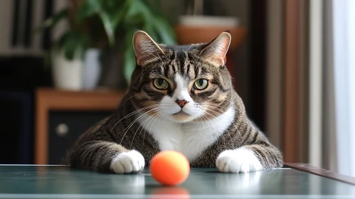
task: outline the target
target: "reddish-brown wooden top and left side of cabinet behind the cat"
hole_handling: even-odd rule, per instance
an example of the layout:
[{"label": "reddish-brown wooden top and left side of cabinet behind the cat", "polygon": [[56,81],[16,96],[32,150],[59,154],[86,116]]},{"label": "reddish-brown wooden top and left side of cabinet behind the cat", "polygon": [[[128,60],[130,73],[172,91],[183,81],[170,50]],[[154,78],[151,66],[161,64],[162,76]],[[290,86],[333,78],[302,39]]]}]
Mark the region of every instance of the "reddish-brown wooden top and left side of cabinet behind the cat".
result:
[{"label": "reddish-brown wooden top and left side of cabinet behind the cat", "polygon": [[68,91],[41,87],[36,90],[35,163],[48,163],[48,112],[107,111],[117,109],[125,92],[117,90]]}]

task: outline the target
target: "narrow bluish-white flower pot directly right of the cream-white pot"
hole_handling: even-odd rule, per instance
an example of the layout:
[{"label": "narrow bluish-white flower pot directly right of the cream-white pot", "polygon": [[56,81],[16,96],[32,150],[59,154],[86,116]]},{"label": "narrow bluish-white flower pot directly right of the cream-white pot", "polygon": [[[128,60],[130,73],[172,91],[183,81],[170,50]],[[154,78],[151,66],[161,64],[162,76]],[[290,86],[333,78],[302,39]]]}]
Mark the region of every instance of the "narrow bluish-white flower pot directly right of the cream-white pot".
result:
[{"label": "narrow bluish-white flower pot directly right of the cream-white pot", "polygon": [[101,74],[101,51],[95,48],[88,49],[85,53],[83,64],[83,89],[92,90],[97,86]]}]

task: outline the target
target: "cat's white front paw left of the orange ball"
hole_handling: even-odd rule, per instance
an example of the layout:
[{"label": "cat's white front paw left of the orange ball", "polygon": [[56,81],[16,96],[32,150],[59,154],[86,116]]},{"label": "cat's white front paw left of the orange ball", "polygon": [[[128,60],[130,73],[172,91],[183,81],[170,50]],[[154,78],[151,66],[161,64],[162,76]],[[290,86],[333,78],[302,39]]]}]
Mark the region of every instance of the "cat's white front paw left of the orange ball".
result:
[{"label": "cat's white front paw left of the orange ball", "polygon": [[138,151],[122,152],[112,158],[111,171],[115,173],[132,173],[144,168],[144,157]]}]

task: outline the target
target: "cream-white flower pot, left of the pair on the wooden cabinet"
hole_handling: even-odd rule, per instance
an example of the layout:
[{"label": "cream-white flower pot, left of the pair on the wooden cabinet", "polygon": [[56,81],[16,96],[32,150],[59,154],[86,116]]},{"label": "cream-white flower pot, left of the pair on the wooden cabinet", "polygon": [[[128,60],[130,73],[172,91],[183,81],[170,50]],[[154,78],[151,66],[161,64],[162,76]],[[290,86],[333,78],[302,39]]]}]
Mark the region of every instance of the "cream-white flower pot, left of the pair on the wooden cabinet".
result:
[{"label": "cream-white flower pot, left of the pair on the wooden cabinet", "polygon": [[63,52],[55,51],[52,56],[52,75],[54,86],[63,90],[82,90],[83,60],[68,60]]}]

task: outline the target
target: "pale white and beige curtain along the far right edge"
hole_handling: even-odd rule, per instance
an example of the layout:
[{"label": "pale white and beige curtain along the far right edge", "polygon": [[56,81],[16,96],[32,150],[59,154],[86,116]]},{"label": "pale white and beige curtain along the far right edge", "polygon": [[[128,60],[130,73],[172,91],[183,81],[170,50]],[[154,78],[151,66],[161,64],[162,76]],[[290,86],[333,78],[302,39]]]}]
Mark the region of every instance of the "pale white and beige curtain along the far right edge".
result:
[{"label": "pale white and beige curtain along the far right edge", "polygon": [[309,163],[355,176],[355,1],[309,6]]}]

